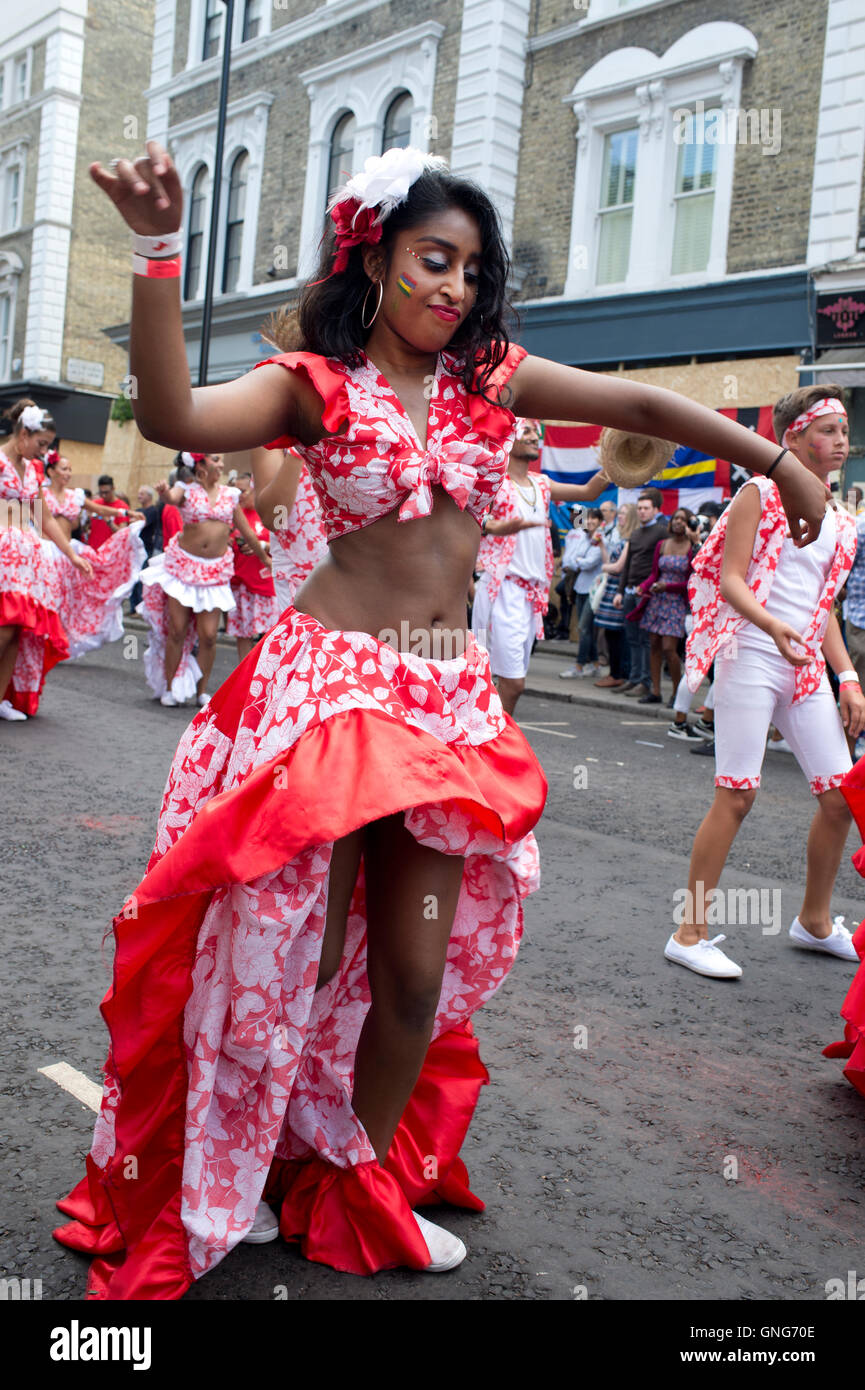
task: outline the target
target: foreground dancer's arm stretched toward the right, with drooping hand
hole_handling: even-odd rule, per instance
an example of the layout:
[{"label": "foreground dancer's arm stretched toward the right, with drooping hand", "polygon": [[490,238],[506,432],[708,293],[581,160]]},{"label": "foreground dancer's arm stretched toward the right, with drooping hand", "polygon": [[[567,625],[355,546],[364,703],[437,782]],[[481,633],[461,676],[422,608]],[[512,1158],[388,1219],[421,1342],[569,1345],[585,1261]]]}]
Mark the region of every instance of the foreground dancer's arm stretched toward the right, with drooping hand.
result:
[{"label": "foreground dancer's arm stretched toward the right, with drooping hand", "polygon": [[[576,420],[673,439],[711,459],[729,459],[750,473],[765,474],[779,453],[777,445],[676,391],[580,371],[545,357],[524,357],[510,386],[515,396],[510,409],[537,420]],[[826,509],[820,480],[793,453],[786,453],[772,470],[772,481],[782,495],[794,541],[801,545],[815,541]]]}]

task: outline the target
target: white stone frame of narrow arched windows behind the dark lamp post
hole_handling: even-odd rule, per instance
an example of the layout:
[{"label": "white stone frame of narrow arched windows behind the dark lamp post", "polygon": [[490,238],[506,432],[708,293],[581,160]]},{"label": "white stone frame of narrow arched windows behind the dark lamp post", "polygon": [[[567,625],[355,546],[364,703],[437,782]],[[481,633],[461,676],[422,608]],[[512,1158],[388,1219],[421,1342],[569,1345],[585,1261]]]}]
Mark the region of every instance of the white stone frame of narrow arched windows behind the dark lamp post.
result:
[{"label": "white stone frame of narrow arched windows behind the dark lamp post", "polygon": [[[259,208],[261,203],[261,175],[264,171],[264,150],[267,147],[267,121],[270,107],[274,103],[271,92],[250,92],[249,96],[228,104],[225,113],[225,145],[223,149],[223,186],[220,189],[220,227],[216,243],[216,261],[213,275],[213,297],[231,299],[242,295],[253,286],[253,268],[256,256],[256,240],[259,228]],[[207,165],[207,207],[204,215],[204,243],[202,257],[202,274],[199,284],[200,299],[204,293],[204,277],[207,274],[207,247],[210,246],[210,224],[213,215],[213,178],[216,170],[216,133],[217,113],[206,111],[189,121],[178,122],[168,131],[168,149],[181,178],[181,186],[188,193],[192,188],[192,178],[202,164]],[[228,186],[231,167],[238,154],[246,150],[249,154],[249,179],[246,183],[246,207],[243,213],[243,240],[241,249],[241,270],[238,284],[232,291],[221,292],[223,260],[225,256],[225,227],[228,218]],[[184,210],[188,217],[188,208]],[[192,304],[196,300],[185,300]]]}]

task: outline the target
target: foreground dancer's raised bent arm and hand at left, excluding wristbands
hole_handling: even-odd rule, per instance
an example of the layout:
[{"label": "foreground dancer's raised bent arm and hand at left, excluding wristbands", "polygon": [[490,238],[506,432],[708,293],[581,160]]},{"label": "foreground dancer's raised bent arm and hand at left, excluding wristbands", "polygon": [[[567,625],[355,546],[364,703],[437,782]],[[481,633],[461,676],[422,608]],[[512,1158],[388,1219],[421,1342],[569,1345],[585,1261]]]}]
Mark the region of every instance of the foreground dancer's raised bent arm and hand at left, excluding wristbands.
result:
[{"label": "foreground dancer's raised bent arm and hand at left, excluding wristbands", "polygon": [[[156,140],[146,147],[134,163],[118,160],[115,172],[90,164],[90,177],[134,232],[165,236],[184,225],[181,182],[167,150]],[[314,428],[321,420],[316,391],[275,364],[192,388],[179,285],[179,277],[132,277],[131,400],[145,438],[193,453],[238,453],[298,425],[303,432],[303,421]]]}]

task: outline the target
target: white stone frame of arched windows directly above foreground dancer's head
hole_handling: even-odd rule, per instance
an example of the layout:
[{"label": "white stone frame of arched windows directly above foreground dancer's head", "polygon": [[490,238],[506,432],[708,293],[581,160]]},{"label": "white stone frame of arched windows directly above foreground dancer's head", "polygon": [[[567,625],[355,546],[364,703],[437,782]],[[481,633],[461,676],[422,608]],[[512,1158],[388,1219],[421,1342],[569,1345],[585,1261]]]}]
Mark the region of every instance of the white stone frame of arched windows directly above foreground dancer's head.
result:
[{"label": "white stone frame of arched windows directly above foreground dancer's head", "polygon": [[299,277],[312,275],[317,263],[331,139],[341,117],[350,111],[357,122],[352,174],[363,168],[370,154],[381,153],[387,110],[398,92],[412,96],[410,143],[419,150],[428,150],[435,61],[444,32],[444,24],[430,19],[299,74],[309,97]]}]

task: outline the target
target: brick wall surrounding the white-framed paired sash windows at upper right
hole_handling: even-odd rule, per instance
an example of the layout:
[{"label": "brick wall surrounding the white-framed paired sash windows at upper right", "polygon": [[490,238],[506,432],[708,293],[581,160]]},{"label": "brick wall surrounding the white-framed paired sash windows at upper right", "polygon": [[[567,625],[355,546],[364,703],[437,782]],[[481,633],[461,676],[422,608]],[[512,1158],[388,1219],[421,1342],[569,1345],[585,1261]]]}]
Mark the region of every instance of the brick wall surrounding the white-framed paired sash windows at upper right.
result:
[{"label": "brick wall surrounding the white-framed paired sash windows at upper right", "polygon": [[[576,18],[562,0],[540,0],[534,32]],[[531,56],[523,108],[515,253],[528,275],[523,297],[560,295],[576,168],[576,117],[562,101],[577,79],[619,47],[661,56],[700,24],[725,19],[751,29],[759,51],[743,71],[741,106],[780,108],[782,145],[766,156],[757,145],[736,150],[727,272],[793,265],[805,260],[826,22],[825,0],[679,0]]]}]

